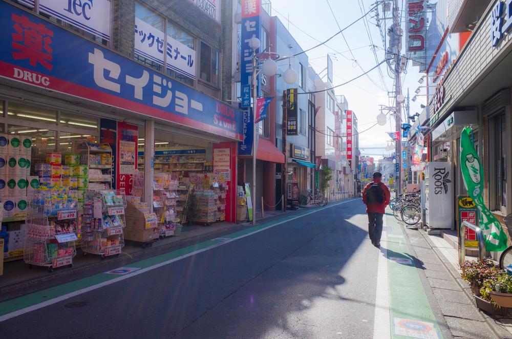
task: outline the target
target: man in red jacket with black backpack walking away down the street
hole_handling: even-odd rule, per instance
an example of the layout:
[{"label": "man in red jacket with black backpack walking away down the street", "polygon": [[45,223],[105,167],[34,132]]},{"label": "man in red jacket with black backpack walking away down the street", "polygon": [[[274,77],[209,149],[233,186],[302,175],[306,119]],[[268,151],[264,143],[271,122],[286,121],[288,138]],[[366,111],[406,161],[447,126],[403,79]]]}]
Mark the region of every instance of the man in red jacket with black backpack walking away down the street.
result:
[{"label": "man in red jacket with black backpack walking away down the street", "polygon": [[380,247],[382,218],[391,198],[388,187],[381,181],[382,174],[375,172],[373,181],[362,191],[362,201],[366,204],[366,213],[368,213],[368,235],[375,247]]}]

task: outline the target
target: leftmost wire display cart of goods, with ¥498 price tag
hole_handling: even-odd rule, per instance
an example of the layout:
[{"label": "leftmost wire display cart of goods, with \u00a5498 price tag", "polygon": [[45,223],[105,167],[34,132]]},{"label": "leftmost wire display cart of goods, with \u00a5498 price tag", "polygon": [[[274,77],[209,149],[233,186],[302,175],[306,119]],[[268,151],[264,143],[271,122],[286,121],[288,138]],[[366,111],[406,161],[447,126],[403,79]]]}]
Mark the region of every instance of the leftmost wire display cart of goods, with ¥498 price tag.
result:
[{"label": "leftmost wire display cart of goods, with \u00a5498 price tag", "polygon": [[78,240],[78,201],[69,189],[36,189],[29,198],[24,260],[50,272],[72,266]]}]

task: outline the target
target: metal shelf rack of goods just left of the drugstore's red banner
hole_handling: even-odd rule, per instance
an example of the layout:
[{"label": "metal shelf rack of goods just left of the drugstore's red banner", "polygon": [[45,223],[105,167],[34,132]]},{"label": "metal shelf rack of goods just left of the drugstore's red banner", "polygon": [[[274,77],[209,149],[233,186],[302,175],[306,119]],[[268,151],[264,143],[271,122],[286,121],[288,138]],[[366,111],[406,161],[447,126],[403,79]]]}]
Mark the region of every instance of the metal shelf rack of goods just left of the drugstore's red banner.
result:
[{"label": "metal shelf rack of goods just left of the drugstore's red banner", "polygon": [[73,152],[66,157],[79,158],[80,165],[87,166],[88,172],[81,174],[88,181],[88,189],[112,188],[112,148],[108,143],[78,140],[73,143]]}]

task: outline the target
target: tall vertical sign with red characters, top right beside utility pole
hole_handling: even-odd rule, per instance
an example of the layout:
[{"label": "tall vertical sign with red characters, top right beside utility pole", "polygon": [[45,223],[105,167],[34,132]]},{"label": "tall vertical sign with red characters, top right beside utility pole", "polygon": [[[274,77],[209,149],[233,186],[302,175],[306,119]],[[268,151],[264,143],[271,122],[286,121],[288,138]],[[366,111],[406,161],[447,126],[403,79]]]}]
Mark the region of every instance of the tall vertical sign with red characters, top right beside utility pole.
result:
[{"label": "tall vertical sign with red characters, top right beside utility pole", "polygon": [[407,0],[406,14],[406,54],[419,66],[419,71],[426,70],[426,12],[424,0]]}]

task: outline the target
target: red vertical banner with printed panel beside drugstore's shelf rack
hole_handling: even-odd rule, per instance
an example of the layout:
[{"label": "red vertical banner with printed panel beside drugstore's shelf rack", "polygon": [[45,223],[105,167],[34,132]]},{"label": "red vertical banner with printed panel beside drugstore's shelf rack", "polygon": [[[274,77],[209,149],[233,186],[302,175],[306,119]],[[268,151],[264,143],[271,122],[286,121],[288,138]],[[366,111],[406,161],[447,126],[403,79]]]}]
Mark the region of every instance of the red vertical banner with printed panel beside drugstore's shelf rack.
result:
[{"label": "red vertical banner with printed panel beside drugstore's shelf rack", "polygon": [[[133,173],[137,169],[138,127],[125,122],[117,122],[117,161],[116,189],[132,195]],[[147,158],[146,158],[147,159]]]}]

